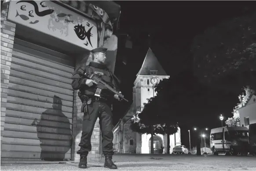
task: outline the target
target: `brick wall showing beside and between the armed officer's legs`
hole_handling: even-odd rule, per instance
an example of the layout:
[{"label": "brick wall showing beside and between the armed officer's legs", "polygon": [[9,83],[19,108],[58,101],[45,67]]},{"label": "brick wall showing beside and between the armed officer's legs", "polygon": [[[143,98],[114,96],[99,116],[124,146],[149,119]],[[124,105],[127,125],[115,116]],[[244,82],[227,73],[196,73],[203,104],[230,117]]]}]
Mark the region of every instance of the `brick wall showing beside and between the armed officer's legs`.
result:
[{"label": "brick wall showing beside and between the armed officer's legs", "polygon": [[[82,102],[79,99],[78,90],[74,91],[74,103],[73,103],[73,132],[72,132],[72,160],[79,162],[80,155],[77,154],[77,150],[80,149],[78,144],[80,143],[82,134],[82,121],[84,113],[80,113]],[[99,118],[97,119],[94,129],[91,135],[91,151],[88,154],[88,162],[99,162],[100,161],[100,128]]]}]

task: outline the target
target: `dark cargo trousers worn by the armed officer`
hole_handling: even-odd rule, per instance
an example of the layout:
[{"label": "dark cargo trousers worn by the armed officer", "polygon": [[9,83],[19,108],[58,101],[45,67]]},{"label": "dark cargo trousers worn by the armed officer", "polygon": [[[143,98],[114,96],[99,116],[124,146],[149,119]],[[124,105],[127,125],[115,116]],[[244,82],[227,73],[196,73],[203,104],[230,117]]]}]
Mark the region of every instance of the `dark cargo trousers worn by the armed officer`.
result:
[{"label": "dark cargo trousers worn by the armed officer", "polygon": [[110,106],[102,101],[92,101],[88,104],[88,112],[84,113],[83,128],[81,141],[79,143],[80,150],[77,154],[87,156],[91,151],[91,135],[97,118],[99,117],[99,125],[102,132],[102,152],[105,156],[113,155],[113,118]]}]

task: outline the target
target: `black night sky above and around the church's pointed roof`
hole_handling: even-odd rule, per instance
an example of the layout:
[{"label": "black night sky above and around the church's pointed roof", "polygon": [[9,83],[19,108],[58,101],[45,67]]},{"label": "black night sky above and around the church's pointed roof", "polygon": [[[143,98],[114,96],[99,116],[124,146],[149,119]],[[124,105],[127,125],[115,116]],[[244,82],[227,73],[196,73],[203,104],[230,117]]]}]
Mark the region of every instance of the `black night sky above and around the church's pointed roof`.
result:
[{"label": "black night sky above and around the church's pointed roof", "polygon": [[[213,27],[221,21],[239,17],[256,9],[256,6],[252,5],[253,1],[115,2],[121,5],[120,29],[117,36],[129,34],[133,47],[127,65],[122,64],[126,36],[118,36],[115,75],[121,78],[121,90],[129,103],[114,105],[114,125],[132,103],[133,83],[149,46],[170,77],[180,71],[192,71],[193,56],[190,53],[190,44],[196,35],[202,34],[206,28]],[[148,34],[150,34],[150,45]],[[199,118],[198,120],[200,122]],[[221,126],[218,118],[212,119],[211,122],[214,122],[216,127]],[[203,126],[198,125],[198,127]],[[187,147],[189,146],[188,129],[191,128],[181,128],[181,141]],[[193,143],[192,141],[191,146],[195,145]]]}]

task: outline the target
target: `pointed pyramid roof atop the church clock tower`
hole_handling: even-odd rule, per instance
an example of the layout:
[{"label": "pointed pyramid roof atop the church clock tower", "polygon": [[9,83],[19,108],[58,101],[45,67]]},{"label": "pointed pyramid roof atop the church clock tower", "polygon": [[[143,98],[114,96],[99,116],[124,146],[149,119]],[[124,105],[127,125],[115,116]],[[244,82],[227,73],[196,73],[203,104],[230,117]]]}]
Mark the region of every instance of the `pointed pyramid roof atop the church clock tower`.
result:
[{"label": "pointed pyramid roof atop the church clock tower", "polygon": [[167,75],[157,57],[154,55],[152,50],[149,48],[146,57],[143,61],[142,67],[140,68],[138,75],[150,75],[150,70],[157,70],[157,75]]}]

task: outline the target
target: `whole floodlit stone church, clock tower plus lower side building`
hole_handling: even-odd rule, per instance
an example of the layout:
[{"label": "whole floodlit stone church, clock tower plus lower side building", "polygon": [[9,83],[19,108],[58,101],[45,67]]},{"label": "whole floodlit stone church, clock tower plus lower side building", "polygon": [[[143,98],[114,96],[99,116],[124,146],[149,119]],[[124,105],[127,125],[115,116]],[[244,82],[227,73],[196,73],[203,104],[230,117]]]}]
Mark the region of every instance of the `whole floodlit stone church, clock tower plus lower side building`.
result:
[{"label": "whole floodlit stone church, clock tower plus lower side building", "polygon": [[[156,96],[153,90],[153,85],[160,82],[164,78],[170,76],[166,74],[161,64],[155,57],[152,50],[149,48],[146,57],[140,68],[133,87],[133,104],[126,112],[114,130],[113,144],[121,153],[150,153],[151,149],[151,135],[139,134],[132,132],[130,128],[130,119],[136,111],[143,110],[143,103],[147,103],[147,99]],[[119,137],[119,138],[118,138]],[[122,142],[120,146],[120,142]],[[164,151],[160,151],[161,145],[164,146]],[[176,145],[180,145],[180,129],[174,134],[170,135],[170,153]],[[167,153],[167,135],[154,135],[154,153]]]}]

